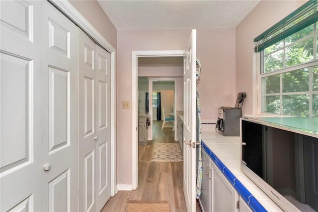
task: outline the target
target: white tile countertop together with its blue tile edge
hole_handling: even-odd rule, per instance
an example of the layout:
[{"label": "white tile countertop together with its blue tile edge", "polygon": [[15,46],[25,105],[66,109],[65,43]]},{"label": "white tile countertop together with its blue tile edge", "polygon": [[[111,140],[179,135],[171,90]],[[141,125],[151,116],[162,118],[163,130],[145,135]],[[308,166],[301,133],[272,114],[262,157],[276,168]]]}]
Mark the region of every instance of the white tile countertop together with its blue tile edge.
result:
[{"label": "white tile countertop together with its blue tile edge", "polygon": [[203,131],[201,139],[203,141],[202,148],[236,188],[247,205],[255,211],[282,211],[254,182],[241,172],[240,137],[223,136],[213,131]]}]

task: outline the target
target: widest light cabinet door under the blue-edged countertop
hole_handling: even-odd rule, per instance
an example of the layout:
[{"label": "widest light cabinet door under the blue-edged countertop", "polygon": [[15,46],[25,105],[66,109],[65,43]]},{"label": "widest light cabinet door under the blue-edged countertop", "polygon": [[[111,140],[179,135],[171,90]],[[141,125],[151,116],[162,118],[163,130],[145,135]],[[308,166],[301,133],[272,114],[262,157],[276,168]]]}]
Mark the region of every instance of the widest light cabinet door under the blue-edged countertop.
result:
[{"label": "widest light cabinet door under the blue-edged countertop", "polygon": [[238,212],[236,207],[239,194],[230,182],[221,173],[219,168],[212,164],[212,210],[214,212]]}]

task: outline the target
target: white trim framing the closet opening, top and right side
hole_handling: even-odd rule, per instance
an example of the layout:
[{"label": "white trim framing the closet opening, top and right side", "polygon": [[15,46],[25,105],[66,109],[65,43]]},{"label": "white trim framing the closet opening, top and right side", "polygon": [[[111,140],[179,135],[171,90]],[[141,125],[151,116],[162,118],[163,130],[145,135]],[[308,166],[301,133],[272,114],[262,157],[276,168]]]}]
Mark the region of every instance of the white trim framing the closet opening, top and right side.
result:
[{"label": "white trim framing the closet opening, top and right side", "polygon": [[102,46],[111,56],[111,196],[117,191],[116,177],[116,50],[108,41],[79,13],[79,11],[66,0],[48,0],[76,23],[80,29],[87,33],[97,44]]}]

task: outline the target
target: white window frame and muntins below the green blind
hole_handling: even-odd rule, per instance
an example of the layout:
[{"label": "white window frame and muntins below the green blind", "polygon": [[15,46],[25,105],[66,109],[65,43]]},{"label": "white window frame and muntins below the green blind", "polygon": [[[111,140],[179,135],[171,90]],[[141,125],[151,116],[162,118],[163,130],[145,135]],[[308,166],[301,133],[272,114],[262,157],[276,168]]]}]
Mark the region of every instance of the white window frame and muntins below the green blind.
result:
[{"label": "white window frame and muntins below the green blind", "polygon": [[[311,86],[313,84],[312,80],[313,80],[313,77],[309,77],[309,91],[308,92],[292,92],[292,93],[284,93],[282,91],[282,74],[283,73],[288,73],[288,72],[291,72],[291,71],[294,71],[294,70],[299,70],[299,69],[303,69],[303,68],[309,68],[309,67],[312,67],[312,66],[317,66],[318,65],[318,53],[317,53],[317,36],[318,36],[318,22],[314,23],[314,32],[310,35],[307,35],[306,37],[303,37],[297,41],[294,41],[288,45],[285,46],[285,40],[284,40],[284,45],[282,48],[279,48],[279,49],[276,49],[275,51],[267,54],[267,55],[270,55],[270,54],[273,54],[277,51],[280,51],[283,49],[284,51],[284,58],[283,58],[283,67],[282,69],[278,70],[278,71],[271,71],[271,72],[267,72],[267,73],[261,73],[262,70],[263,70],[263,62],[261,62],[261,59],[263,60],[264,58],[264,50],[262,50],[261,52],[258,52],[258,53],[255,53],[254,55],[256,55],[256,82],[257,82],[257,85],[256,85],[256,91],[257,91],[257,109],[255,109],[254,111],[257,111],[257,114],[259,115],[266,115],[266,116],[277,116],[277,117],[280,117],[280,116],[289,116],[289,115],[283,115],[281,114],[282,113],[282,105],[283,105],[283,100],[282,100],[282,97],[284,95],[303,95],[303,94],[308,94],[310,95],[310,98],[309,98],[309,117],[312,117],[312,114],[313,114],[313,94],[318,94],[318,91],[313,91],[313,87]],[[294,65],[294,66],[289,66],[289,67],[285,67],[286,66],[286,60],[285,60],[285,55],[286,55],[286,52],[285,52],[285,49],[288,48],[289,46],[293,46],[297,43],[300,43],[310,37],[313,37],[313,48],[316,49],[316,51],[314,51],[313,53],[313,60],[311,61],[308,61],[308,62],[305,62],[305,63],[302,63],[302,64],[298,64],[298,65]],[[264,91],[264,86],[262,84],[262,79],[265,78],[265,77],[268,77],[268,76],[273,76],[273,75],[277,75],[277,74],[280,74],[280,92],[279,93],[275,93],[275,94],[263,94],[263,91]],[[312,69],[309,70],[309,76],[313,76],[313,71]],[[266,105],[265,105],[265,102],[263,102],[263,97],[264,96],[280,96],[280,114],[276,114],[276,113],[268,113],[268,112],[265,112],[265,111],[262,111],[263,108],[266,108]],[[255,108],[253,107],[253,108]]]}]

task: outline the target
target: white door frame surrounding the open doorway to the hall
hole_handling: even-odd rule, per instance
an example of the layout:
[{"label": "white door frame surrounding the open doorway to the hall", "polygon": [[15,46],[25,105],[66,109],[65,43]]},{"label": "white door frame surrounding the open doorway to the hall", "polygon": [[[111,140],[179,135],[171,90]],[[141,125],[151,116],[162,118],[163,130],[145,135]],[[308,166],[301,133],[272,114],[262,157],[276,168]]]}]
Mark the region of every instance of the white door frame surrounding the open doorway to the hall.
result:
[{"label": "white door frame surrounding the open doorway to the hall", "polygon": [[138,57],[183,57],[183,54],[184,50],[132,51],[132,190],[138,187]]}]

